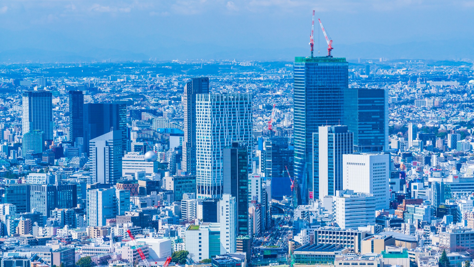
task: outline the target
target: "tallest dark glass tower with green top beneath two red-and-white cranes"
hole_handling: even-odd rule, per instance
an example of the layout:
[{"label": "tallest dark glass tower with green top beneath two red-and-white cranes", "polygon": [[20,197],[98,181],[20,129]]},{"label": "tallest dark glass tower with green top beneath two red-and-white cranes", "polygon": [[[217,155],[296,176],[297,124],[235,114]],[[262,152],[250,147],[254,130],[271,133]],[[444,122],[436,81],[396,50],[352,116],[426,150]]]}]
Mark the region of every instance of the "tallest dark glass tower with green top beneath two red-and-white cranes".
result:
[{"label": "tallest dark glass tower with green top beneath two red-and-white cranes", "polygon": [[297,201],[308,202],[312,186],[312,138],[321,125],[342,120],[344,92],[348,88],[346,58],[295,57],[294,73],[294,177]]}]

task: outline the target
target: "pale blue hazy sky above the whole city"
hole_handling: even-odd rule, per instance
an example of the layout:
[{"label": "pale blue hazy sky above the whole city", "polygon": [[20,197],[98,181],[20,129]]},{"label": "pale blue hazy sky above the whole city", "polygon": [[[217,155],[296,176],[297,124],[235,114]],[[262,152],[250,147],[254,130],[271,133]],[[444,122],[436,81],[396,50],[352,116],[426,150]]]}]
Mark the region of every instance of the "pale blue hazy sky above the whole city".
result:
[{"label": "pale blue hazy sky above the whole city", "polygon": [[0,0],[0,51],[288,59],[309,54],[312,10],[335,56],[474,58],[473,0]]}]

